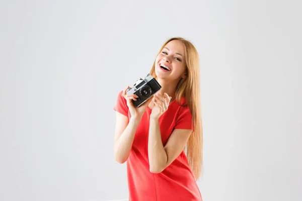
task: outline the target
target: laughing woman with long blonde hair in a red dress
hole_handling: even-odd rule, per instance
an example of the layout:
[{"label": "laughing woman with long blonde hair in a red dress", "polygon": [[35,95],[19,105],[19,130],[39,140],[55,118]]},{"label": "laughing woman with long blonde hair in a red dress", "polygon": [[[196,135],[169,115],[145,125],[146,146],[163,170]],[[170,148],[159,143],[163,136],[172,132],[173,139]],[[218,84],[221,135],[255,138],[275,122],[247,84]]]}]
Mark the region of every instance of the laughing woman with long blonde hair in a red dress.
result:
[{"label": "laughing woman with long blonde hair in a red dress", "polygon": [[127,161],[129,200],[202,200],[196,183],[202,121],[195,47],[183,38],[169,39],[150,74],[162,86],[153,98],[137,108],[132,103],[137,96],[127,95],[127,86],[114,107],[114,157]]}]

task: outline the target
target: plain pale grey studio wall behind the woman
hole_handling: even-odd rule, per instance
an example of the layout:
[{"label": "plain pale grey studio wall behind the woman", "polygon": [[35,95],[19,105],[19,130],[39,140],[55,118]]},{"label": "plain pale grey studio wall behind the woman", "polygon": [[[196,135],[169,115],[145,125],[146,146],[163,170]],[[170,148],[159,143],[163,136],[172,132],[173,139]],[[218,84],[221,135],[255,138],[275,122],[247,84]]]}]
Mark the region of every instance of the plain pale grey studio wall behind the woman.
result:
[{"label": "plain pale grey studio wall behind the woman", "polygon": [[301,6],[1,2],[0,200],[126,200],[113,107],[174,36],[200,56],[203,199],[302,200]]}]

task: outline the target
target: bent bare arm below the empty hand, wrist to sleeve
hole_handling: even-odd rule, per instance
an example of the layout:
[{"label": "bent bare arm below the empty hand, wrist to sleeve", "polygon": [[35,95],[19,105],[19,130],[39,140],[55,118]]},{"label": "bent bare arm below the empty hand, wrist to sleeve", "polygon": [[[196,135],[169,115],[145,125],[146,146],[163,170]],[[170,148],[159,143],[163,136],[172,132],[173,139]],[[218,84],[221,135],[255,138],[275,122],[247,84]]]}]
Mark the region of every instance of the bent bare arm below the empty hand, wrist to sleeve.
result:
[{"label": "bent bare arm below the empty hand, wrist to sleeve", "polygon": [[151,118],[148,138],[150,172],[160,173],[168,167],[184,150],[191,133],[192,130],[175,129],[164,147],[159,120]]}]

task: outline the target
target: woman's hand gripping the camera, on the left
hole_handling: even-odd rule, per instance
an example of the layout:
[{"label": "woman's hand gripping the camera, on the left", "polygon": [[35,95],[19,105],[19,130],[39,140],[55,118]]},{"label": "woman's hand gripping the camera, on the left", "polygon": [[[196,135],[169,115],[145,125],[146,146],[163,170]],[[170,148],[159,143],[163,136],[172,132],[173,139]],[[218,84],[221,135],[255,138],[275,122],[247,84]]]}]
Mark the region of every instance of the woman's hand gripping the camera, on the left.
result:
[{"label": "woman's hand gripping the camera, on the left", "polygon": [[129,112],[131,117],[133,118],[139,118],[142,117],[142,115],[144,114],[146,108],[148,107],[149,103],[152,101],[152,97],[150,97],[146,102],[144,102],[141,106],[136,107],[132,100],[136,100],[136,98],[138,97],[136,94],[130,94],[127,95],[126,94],[126,90],[129,88],[129,86],[127,86],[126,88],[124,88],[123,90],[123,96],[124,98],[127,100],[127,106],[129,108]]}]

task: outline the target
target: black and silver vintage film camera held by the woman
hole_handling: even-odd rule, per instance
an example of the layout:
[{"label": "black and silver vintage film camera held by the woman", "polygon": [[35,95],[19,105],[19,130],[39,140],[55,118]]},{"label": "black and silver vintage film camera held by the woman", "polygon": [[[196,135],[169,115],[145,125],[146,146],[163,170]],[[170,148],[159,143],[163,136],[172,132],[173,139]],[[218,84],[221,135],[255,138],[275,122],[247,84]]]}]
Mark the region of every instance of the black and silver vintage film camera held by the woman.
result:
[{"label": "black and silver vintage film camera held by the woman", "polygon": [[135,106],[139,107],[161,88],[160,83],[148,73],[145,78],[138,79],[126,92],[127,94],[136,94],[138,96],[136,100],[132,100],[132,102]]}]

